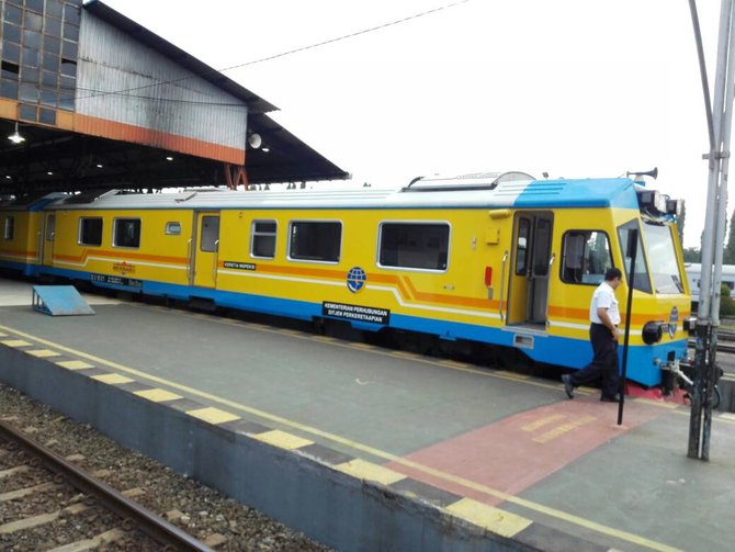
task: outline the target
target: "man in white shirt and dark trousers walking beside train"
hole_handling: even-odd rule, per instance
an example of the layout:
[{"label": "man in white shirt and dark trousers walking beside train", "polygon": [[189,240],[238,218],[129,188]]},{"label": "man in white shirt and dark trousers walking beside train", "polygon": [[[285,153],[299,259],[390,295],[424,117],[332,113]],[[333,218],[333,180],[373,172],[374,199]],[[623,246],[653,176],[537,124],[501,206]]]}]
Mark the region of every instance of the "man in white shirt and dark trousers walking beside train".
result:
[{"label": "man in white shirt and dark trousers walking beside train", "polygon": [[595,357],[581,370],[562,375],[564,391],[574,398],[574,388],[602,379],[600,401],[618,402],[620,395],[620,375],[618,373],[618,339],[620,338],[620,308],[615,290],[623,274],[620,269],[611,268],[604,273],[604,282],[598,285],[589,305],[589,339]]}]

